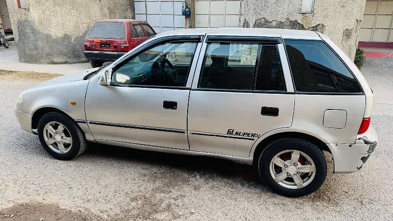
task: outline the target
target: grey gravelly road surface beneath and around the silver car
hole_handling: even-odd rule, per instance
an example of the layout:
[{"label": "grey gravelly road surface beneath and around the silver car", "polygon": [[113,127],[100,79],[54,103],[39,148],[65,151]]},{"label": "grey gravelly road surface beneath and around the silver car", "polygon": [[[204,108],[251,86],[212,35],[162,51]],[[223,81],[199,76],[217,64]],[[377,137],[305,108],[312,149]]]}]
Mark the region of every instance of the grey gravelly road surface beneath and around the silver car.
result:
[{"label": "grey gravelly road surface beneath and around the silver car", "polygon": [[361,171],[329,173],[317,192],[287,198],[252,166],[219,159],[91,145],[73,161],[55,160],[13,112],[36,83],[0,74],[0,220],[393,219],[393,114],[384,111],[392,104],[376,104],[379,144]]}]

